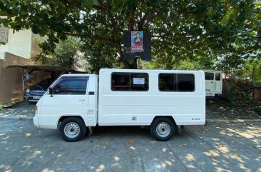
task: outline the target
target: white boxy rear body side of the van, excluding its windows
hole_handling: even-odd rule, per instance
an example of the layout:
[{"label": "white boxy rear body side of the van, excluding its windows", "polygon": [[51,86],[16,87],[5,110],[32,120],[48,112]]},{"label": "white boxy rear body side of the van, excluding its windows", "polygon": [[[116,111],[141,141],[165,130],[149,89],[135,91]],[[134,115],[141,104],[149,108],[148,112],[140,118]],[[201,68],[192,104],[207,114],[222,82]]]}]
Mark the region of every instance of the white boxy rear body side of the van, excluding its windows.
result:
[{"label": "white boxy rear body side of the van, excluding its windows", "polygon": [[[147,73],[148,91],[111,91],[112,72]],[[194,74],[195,91],[159,91],[158,75],[161,73]],[[148,126],[155,116],[173,116],[177,125],[203,125],[205,76],[203,71],[101,69],[98,108],[100,126]]]}]

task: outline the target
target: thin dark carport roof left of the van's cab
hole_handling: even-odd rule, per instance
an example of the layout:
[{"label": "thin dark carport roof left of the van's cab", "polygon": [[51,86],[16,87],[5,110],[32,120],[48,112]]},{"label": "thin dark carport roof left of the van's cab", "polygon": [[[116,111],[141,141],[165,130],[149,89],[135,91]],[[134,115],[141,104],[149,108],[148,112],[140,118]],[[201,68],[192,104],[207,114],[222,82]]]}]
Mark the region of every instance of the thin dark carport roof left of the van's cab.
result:
[{"label": "thin dark carport roof left of the van's cab", "polygon": [[6,68],[22,68],[28,69],[33,71],[47,71],[47,72],[58,72],[58,71],[65,71],[65,72],[72,72],[72,73],[85,73],[82,71],[76,71],[73,69],[63,68],[59,66],[41,66],[41,65],[22,65],[22,64],[14,64],[6,66]]}]

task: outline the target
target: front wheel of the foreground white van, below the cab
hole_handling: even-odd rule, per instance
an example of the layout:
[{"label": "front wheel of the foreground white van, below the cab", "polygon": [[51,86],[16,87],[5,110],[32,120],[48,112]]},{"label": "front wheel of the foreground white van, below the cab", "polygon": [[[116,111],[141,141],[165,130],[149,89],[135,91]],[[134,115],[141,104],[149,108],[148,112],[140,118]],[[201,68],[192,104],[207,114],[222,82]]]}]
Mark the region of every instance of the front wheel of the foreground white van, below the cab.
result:
[{"label": "front wheel of the foreground white van, below the cab", "polygon": [[78,141],[86,134],[85,123],[81,118],[66,118],[61,122],[60,134],[65,141]]}]

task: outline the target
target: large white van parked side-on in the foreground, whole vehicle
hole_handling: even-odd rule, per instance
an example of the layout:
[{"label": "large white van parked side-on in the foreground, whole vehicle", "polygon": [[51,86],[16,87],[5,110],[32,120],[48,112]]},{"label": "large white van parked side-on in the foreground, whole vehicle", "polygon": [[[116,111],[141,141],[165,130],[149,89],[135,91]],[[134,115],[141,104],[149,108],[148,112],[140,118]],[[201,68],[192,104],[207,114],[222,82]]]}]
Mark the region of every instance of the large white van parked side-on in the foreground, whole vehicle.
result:
[{"label": "large white van parked side-on in the foreground, whole vehicle", "polygon": [[203,71],[101,69],[65,74],[36,104],[34,125],[78,141],[94,126],[150,126],[167,141],[180,125],[205,124]]}]

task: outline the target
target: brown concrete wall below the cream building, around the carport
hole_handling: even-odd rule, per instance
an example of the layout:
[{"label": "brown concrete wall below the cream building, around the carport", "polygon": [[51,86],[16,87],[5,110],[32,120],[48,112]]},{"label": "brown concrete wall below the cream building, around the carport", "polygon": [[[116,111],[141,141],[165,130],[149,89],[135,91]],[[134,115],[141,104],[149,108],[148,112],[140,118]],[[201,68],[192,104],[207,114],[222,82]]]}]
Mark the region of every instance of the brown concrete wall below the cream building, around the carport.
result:
[{"label": "brown concrete wall below the cream building, around the carport", "polygon": [[[11,103],[15,101],[23,101],[23,85],[22,76],[24,75],[23,69],[6,69],[6,66],[12,64],[35,64],[34,61],[16,56],[15,54],[5,54],[5,60],[0,60],[0,104]],[[39,82],[43,79],[50,77],[46,72],[31,73],[31,84]],[[26,88],[30,83],[26,83]],[[26,90],[26,89],[25,89]]]}]

